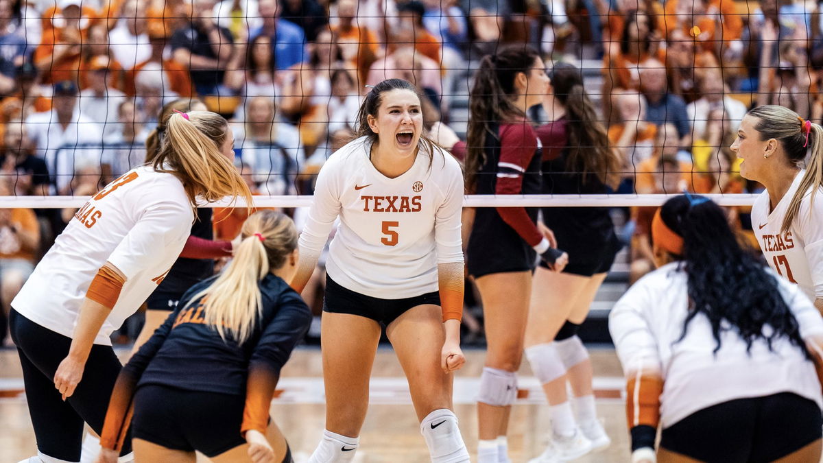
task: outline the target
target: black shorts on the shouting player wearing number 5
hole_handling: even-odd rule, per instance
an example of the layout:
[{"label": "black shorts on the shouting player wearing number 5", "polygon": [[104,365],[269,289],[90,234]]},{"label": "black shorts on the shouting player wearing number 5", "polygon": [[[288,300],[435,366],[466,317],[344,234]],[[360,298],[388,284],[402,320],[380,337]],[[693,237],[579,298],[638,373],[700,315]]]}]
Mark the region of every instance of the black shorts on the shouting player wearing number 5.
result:
[{"label": "black shorts on the shouting player wearing number 5", "polygon": [[324,312],[365,316],[381,325],[388,326],[407,310],[424,304],[439,306],[440,293],[435,291],[403,299],[380,299],[343,288],[326,274]]}]

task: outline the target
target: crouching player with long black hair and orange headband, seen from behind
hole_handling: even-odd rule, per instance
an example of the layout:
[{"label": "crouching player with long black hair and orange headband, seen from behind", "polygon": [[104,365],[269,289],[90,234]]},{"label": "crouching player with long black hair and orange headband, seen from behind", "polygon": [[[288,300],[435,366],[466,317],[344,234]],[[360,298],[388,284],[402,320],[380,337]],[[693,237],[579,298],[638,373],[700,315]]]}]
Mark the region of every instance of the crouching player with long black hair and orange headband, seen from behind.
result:
[{"label": "crouching player with long black hair and orange headband, seen from behind", "polygon": [[658,269],[609,315],[632,461],[655,461],[658,426],[661,462],[820,461],[820,314],[709,199],[669,199],[652,237]]}]

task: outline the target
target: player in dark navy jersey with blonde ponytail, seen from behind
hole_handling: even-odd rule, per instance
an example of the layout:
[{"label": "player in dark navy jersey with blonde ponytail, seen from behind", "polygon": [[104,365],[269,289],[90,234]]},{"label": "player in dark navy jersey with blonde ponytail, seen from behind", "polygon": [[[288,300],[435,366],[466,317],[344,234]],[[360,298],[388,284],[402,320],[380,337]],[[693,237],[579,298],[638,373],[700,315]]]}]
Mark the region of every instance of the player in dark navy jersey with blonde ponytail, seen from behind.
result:
[{"label": "player in dark navy jersey with blonde ponytail, seen from behind", "polygon": [[132,420],[136,461],[291,462],[285,438],[266,440],[281,367],[311,323],[291,289],[297,232],[265,210],[244,223],[235,258],[198,283],[128,361],[114,387],[100,463],[114,463]]}]

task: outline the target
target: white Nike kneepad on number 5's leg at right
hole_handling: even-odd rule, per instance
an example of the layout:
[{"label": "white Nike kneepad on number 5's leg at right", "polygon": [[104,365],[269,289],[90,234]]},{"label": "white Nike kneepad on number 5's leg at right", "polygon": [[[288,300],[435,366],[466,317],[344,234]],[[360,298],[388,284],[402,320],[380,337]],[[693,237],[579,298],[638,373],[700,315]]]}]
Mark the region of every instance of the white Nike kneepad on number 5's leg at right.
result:
[{"label": "white Nike kneepad on number 5's leg at right", "polygon": [[429,447],[433,463],[463,463],[469,461],[466,444],[458,428],[458,417],[449,409],[437,409],[420,423],[420,432]]}]

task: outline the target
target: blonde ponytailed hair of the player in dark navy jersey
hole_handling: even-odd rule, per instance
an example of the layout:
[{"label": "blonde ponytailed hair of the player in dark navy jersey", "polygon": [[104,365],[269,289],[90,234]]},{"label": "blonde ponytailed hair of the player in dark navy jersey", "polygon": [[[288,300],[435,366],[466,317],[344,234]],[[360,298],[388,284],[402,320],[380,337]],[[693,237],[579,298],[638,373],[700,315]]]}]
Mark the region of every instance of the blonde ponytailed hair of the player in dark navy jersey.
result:
[{"label": "blonde ponytailed hair of the player in dark navy jersey", "polygon": [[191,306],[202,299],[205,323],[222,339],[234,339],[238,344],[249,339],[263,313],[258,283],[272,269],[280,269],[297,248],[295,223],[272,210],[253,213],[241,236],[243,241],[223,273],[188,302]]}]

